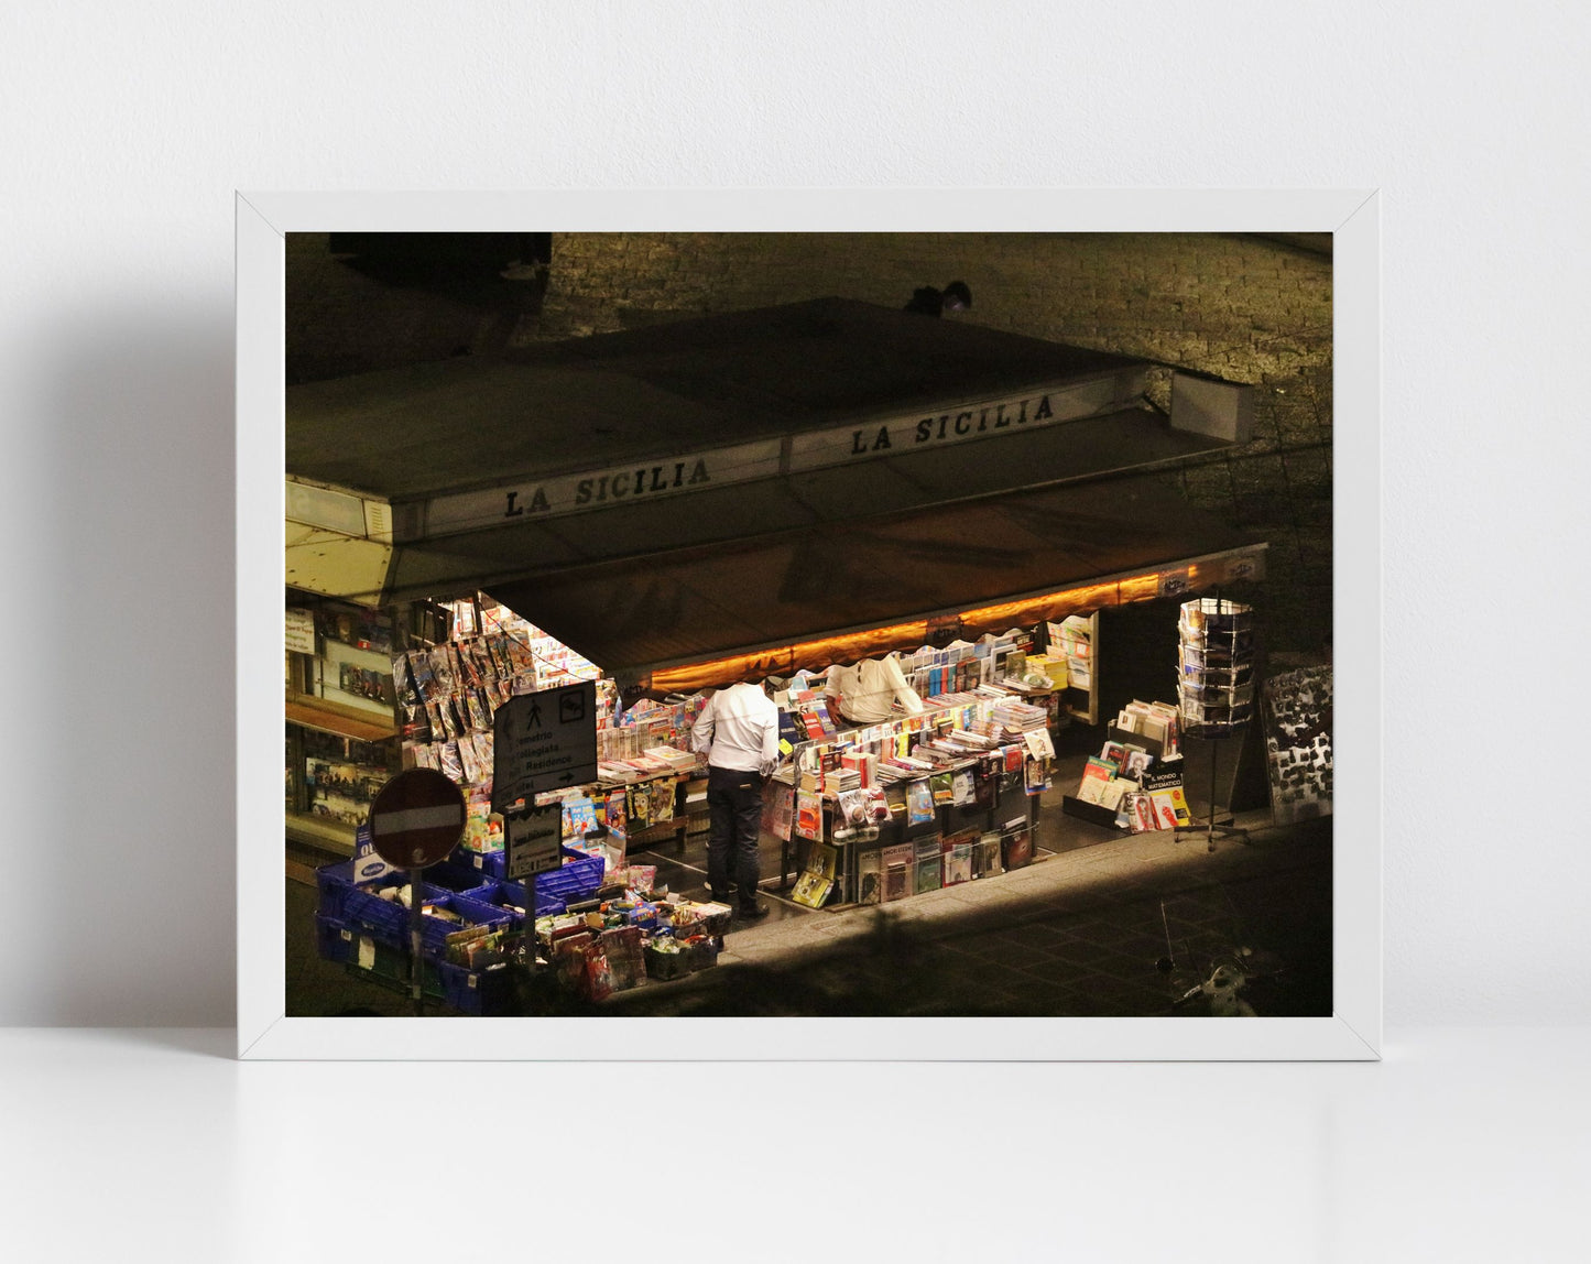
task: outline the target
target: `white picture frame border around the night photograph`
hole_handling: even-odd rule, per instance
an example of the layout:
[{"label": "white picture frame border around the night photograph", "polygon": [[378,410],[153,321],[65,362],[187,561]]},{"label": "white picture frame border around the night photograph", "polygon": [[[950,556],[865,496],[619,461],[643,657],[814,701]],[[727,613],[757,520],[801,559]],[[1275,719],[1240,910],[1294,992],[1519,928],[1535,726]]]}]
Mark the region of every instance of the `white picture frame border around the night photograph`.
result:
[{"label": "white picture frame border around the night photograph", "polygon": [[[237,194],[237,1051],[242,1059],[1367,1060],[1381,1055],[1379,207],[1373,189]],[[280,742],[285,236],[363,231],[1333,234],[1332,1017],[290,1017]],[[1352,506],[1344,513],[1343,506]]]}]

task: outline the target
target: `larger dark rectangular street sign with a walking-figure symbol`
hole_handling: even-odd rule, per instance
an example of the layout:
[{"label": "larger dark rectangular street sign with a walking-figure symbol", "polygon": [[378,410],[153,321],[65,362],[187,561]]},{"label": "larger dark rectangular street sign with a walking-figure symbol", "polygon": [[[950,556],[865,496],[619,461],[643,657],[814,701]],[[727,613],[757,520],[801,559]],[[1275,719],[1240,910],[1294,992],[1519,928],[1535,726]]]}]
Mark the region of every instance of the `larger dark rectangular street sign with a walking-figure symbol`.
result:
[{"label": "larger dark rectangular street sign with a walking-figure symbol", "polygon": [[515,694],[492,723],[492,806],[597,780],[597,685]]}]

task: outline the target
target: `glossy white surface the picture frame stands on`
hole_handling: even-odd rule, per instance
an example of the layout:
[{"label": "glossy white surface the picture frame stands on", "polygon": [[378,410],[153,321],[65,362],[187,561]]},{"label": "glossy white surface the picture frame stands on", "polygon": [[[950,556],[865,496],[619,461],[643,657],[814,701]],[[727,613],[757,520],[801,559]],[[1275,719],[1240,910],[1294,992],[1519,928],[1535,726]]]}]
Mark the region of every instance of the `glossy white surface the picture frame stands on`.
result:
[{"label": "glossy white surface the picture frame stands on", "polygon": [[0,1032],[16,1261],[1583,1261],[1591,1030],[1381,1063],[239,1063]]}]

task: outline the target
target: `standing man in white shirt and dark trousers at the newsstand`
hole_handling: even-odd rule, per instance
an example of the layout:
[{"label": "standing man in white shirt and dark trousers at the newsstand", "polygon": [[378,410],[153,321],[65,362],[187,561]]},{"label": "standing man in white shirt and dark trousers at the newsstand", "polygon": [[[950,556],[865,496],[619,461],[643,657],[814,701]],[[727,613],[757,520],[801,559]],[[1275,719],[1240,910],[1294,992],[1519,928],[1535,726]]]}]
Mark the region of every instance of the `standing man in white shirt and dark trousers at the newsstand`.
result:
[{"label": "standing man in white shirt and dark trousers at the newsstand", "polygon": [[706,882],[727,903],[730,877],[740,895],[740,917],[768,915],[757,899],[762,876],[757,836],[762,833],[762,785],[780,763],[780,708],[760,686],[745,681],[706,700],[690,729],[690,747],[706,755],[706,806],[713,833],[706,844]]}]

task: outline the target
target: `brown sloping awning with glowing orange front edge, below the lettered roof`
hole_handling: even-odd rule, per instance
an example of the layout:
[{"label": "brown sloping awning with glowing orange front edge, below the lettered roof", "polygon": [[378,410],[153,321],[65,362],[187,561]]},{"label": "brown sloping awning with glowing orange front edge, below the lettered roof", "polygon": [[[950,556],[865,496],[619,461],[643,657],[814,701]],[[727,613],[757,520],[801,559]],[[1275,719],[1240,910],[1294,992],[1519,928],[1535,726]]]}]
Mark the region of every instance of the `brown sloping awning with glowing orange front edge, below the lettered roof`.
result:
[{"label": "brown sloping awning with glowing orange front edge, below the lettered roof", "polygon": [[492,597],[605,672],[694,689],[1263,576],[1152,478],[1010,492],[547,570]]}]

